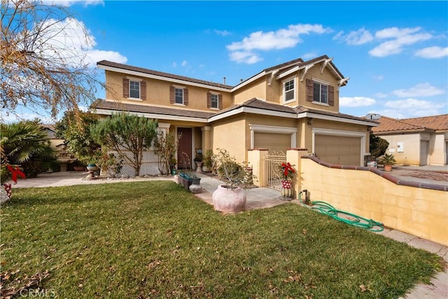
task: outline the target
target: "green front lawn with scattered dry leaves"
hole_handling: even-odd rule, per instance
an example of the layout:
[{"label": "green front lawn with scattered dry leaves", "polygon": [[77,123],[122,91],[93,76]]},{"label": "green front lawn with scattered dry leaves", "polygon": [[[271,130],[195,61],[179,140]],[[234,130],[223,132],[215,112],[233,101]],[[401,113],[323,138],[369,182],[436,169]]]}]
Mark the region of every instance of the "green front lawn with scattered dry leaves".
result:
[{"label": "green front lawn with scattered dry leaves", "polygon": [[15,189],[0,249],[3,291],[41,273],[57,298],[397,298],[442,269],[297,204],[223,216],[171,181]]}]

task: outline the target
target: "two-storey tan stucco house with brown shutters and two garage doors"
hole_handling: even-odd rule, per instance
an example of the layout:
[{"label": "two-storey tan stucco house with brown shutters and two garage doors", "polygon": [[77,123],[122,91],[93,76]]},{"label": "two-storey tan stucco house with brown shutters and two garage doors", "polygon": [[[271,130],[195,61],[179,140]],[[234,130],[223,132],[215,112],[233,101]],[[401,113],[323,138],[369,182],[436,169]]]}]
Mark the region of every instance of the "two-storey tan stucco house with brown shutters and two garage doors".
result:
[{"label": "two-storey tan stucco house with brown shutters and two garage doors", "polygon": [[363,165],[370,155],[374,120],[339,113],[345,78],[324,55],[264,69],[236,86],[197,80],[115,62],[97,62],[106,74],[106,99],[93,112],[118,111],[158,119],[159,128],[182,133],[179,155],[225,148],[237,161],[247,151],[308,148],[326,162]]}]

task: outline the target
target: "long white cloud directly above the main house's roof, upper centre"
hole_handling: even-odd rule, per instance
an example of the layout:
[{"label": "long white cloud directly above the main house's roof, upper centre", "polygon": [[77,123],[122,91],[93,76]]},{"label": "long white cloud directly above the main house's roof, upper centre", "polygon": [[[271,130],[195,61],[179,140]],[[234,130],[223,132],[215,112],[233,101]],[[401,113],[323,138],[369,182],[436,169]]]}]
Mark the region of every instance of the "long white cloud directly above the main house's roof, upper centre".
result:
[{"label": "long white cloud directly above the main house's roof, upper centre", "polygon": [[278,29],[275,32],[253,32],[244,37],[242,41],[234,41],[227,46],[227,49],[230,51],[230,60],[252,64],[262,60],[258,54],[253,52],[255,50],[293,48],[297,43],[302,42],[301,34],[323,34],[330,31],[328,28],[323,28],[322,25],[289,25],[286,29]]}]

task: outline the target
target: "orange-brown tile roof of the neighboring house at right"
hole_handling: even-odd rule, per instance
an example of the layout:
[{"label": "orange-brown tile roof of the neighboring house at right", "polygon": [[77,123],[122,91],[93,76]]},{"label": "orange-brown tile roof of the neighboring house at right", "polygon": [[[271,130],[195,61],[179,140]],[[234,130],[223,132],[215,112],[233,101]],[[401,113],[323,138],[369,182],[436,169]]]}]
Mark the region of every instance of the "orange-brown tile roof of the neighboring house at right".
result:
[{"label": "orange-brown tile roof of the neighboring house at right", "polygon": [[401,120],[381,116],[378,122],[379,126],[374,127],[372,132],[448,130],[448,114],[421,118],[404,118]]}]

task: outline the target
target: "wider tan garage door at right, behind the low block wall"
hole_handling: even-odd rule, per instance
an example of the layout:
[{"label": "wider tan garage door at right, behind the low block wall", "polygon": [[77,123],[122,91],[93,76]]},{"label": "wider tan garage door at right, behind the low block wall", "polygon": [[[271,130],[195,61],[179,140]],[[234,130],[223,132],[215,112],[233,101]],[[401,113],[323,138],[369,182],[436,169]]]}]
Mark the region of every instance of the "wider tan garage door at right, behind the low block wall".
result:
[{"label": "wider tan garage door at right, behind the low block wall", "polygon": [[360,165],[359,137],[316,135],[314,144],[319,159],[339,165]]}]

